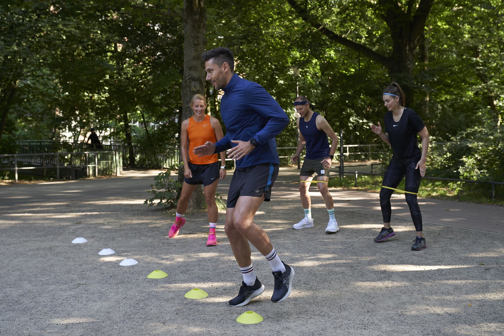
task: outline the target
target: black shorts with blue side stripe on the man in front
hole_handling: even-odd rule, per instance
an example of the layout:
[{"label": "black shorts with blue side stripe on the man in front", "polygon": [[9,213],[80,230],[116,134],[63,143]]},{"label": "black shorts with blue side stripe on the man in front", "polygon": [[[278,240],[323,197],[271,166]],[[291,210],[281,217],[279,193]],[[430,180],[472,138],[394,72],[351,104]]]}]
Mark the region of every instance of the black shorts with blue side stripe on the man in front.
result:
[{"label": "black shorts with blue side stripe on the man in front", "polygon": [[234,208],[240,196],[264,195],[264,200],[270,201],[271,187],[277,179],[278,168],[277,163],[260,163],[242,169],[236,168],[229,185],[226,208]]}]

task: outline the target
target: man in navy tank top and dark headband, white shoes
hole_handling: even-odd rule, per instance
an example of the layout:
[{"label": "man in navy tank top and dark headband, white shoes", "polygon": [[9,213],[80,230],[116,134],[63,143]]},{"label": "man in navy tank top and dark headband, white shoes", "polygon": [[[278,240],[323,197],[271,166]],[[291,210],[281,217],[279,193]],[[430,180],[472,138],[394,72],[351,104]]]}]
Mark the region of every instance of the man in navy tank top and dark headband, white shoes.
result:
[{"label": "man in navy tank top and dark headband, white shoes", "polygon": [[[329,223],[327,223],[326,233],[336,233],[339,230],[338,222],[334,218],[333,197],[327,188],[329,181],[329,170],[334,158],[334,152],[338,148],[338,137],[326,118],[310,109],[310,103],[304,96],[299,96],[294,101],[294,107],[300,114],[297,118],[297,128],[299,129],[299,142],[296,153],[291,157],[295,163],[304,147],[306,155],[303,166],[299,172],[299,192],[301,194],[301,204],[303,205],[304,218],[292,226],[294,229],[305,229],[313,227],[311,218],[311,199],[309,187],[313,174],[317,173],[317,187],[324,198],[327,212],[329,213]],[[329,148],[328,137],[331,138],[331,148]]]}]

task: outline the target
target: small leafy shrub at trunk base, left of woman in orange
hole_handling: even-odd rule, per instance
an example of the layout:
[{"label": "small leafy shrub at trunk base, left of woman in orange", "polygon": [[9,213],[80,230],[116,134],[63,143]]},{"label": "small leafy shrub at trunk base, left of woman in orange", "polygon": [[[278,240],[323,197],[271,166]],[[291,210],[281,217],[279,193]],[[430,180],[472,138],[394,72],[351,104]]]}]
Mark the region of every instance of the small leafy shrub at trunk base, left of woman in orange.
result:
[{"label": "small leafy shrub at trunk base, left of woman in orange", "polygon": [[176,165],[169,167],[165,172],[159,173],[154,177],[154,184],[151,184],[152,190],[147,192],[152,194],[151,198],[147,198],[144,204],[152,207],[156,199],[159,199],[157,207],[163,207],[166,209],[174,208],[177,201],[177,191],[181,187],[180,182],[175,178],[171,177],[171,171],[176,171],[178,167]]}]

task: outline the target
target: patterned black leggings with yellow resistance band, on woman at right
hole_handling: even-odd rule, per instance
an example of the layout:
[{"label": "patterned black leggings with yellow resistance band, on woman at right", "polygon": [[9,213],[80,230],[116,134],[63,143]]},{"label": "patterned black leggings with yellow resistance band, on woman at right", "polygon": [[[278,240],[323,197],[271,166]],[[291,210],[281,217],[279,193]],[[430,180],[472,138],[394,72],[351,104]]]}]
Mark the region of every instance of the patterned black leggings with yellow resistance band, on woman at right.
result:
[{"label": "patterned black leggings with yellow resistance band, on woman at right", "polygon": [[[418,192],[422,176],[420,175],[420,169],[415,169],[415,167],[418,161],[420,161],[420,158],[421,156],[418,155],[406,159],[392,159],[387,167],[387,171],[385,172],[383,185],[397,188],[403,177],[406,175],[404,190]],[[394,190],[387,188],[382,188],[380,191],[380,206],[382,207],[384,223],[390,222],[392,214],[390,196],[392,196],[393,192]],[[418,207],[416,195],[406,192],[405,196],[406,202],[410,208],[411,219],[413,220],[415,229],[416,231],[422,231],[422,213],[420,212],[420,207]]]}]

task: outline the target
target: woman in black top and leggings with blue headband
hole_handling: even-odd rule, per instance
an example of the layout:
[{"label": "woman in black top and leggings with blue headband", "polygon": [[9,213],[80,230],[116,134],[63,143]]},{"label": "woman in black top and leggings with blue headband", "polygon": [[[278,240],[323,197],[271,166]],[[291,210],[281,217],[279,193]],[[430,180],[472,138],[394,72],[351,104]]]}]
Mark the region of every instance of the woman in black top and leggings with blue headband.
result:
[{"label": "woman in black top and leggings with blue headband", "polygon": [[[395,235],[390,227],[391,205],[390,197],[404,176],[406,176],[405,195],[410,208],[411,218],[415,225],[416,238],[411,246],[412,250],[423,250],[427,247],[422,234],[422,214],[418,207],[416,195],[420,187],[420,180],[425,176],[425,161],[429,147],[429,133],[422,119],[412,109],[404,107],[406,97],[399,84],[392,82],[383,91],[383,101],[389,110],[385,114],[384,129],[380,122],[371,124],[371,130],[391,145],[393,155],[383,178],[380,191],[380,206],[382,207],[384,227],[374,238],[375,242],[382,242]],[[416,135],[422,139],[422,151],[418,149]]]}]

